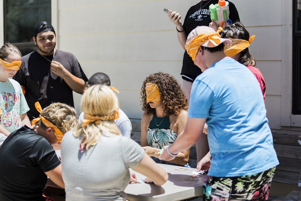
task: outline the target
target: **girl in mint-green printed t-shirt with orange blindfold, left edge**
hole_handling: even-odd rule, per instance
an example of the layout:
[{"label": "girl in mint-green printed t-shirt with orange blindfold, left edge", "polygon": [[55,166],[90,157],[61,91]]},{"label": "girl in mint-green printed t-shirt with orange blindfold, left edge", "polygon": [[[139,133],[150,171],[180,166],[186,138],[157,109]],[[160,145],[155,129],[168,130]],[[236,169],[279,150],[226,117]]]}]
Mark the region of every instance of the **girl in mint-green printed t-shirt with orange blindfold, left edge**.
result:
[{"label": "girl in mint-green printed t-shirt with orange blindfold, left edge", "polygon": [[0,48],[0,133],[6,136],[24,125],[31,126],[22,88],[12,79],[20,69],[21,56],[19,49],[10,43]]}]

